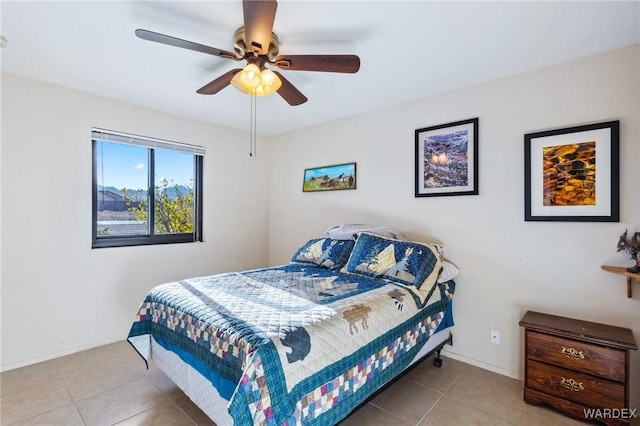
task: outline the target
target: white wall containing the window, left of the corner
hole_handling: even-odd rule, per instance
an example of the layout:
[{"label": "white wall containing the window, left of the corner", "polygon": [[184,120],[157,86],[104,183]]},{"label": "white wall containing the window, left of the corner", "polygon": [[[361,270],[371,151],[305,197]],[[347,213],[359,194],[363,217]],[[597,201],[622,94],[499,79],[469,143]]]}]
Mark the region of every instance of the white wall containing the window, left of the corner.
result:
[{"label": "white wall containing the window, left of the corner", "polygon": [[[206,147],[203,243],[91,249],[92,127]],[[3,74],[2,369],[125,339],[154,285],[266,266],[268,144],[247,141]]]}]

